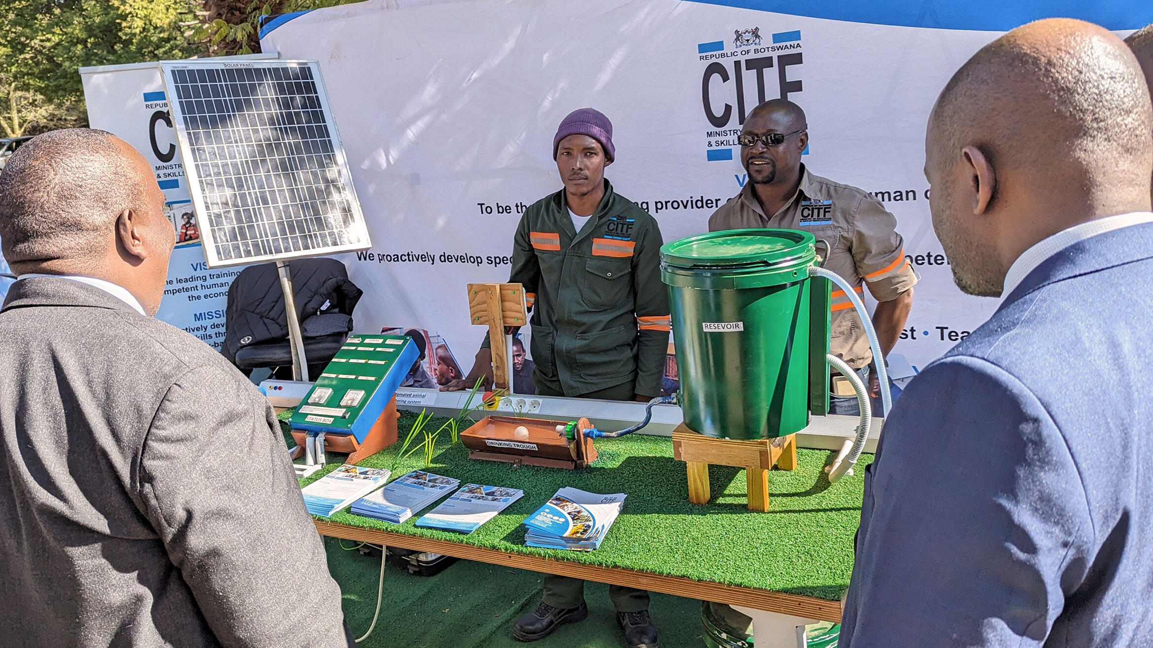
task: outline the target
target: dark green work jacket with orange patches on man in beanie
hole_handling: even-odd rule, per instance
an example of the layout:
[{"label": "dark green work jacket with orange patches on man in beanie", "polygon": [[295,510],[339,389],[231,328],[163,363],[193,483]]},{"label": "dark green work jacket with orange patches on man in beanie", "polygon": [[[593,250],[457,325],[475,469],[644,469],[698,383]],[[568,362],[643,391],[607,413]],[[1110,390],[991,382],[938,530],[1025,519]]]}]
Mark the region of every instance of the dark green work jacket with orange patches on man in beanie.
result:
[{"label": "dark green work jacket with orange patches on man in beanie", "polygon": [[517,226],[508,281],[525,285],[533,311],[533,380],[568,397],[635,380],[636,394],[656,397],[670,324],[661,229],[608,180],[604,188],[580,234],[563,189]]}]

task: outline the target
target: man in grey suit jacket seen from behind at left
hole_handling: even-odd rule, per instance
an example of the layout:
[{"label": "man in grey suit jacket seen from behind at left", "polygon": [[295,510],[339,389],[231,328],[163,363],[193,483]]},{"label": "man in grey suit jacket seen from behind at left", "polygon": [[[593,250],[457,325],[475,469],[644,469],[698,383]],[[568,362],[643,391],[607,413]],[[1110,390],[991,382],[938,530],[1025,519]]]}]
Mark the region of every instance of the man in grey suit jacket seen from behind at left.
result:
[{"label": "man in grey suit jacket seen from behind at left", "polygon": [[0,645],[352,646],[272,408],[150,317],[163,205],[99,130],[0,174]]}]

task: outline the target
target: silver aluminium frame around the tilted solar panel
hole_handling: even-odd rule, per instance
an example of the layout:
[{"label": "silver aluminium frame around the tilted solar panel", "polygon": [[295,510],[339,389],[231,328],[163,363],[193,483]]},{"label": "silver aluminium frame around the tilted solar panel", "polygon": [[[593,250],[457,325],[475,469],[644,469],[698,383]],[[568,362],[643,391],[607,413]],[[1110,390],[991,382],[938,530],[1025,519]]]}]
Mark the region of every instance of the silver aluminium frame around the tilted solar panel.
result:
[{"label": "silver aluminium frame around the tilted solar panel", "polygon": [[[329,104],[329,95],[324,86],[324,78],[321,75],[319,65],[316,61],[286,61],[286,60],[269,60],[269,61],[160,61],[160,75],[164,78],[165,90],[168,93],[168,110],[171,111],[173,127],[176,133],[178,148],[180,149],[180,156],[183,161],[184,175],[188,182],[188,191],[191,195],[193,209],[196,212],[197,223],[199,224],[199,233],[203,240],[204,258],[208,262],[209,268],[226,268],[232,265],[247,265],[254,263],[265,263],[271,261],[282,261],[289,258],[310,257],[310,256],[325,256],[340,253],[349,253],[357,250],[367,250],[372,243],[369,239],[368,226],[364,223],[364,214],[361,211],[360,201],[356,198],[356,190],[353,186],[352,171],[348,166],[348,159],[345,156],[344,146],[340,141],[340,135],[337,129],[336,120],[332,116],[331,106]],[[176,90],[176,81],[173,73],[176,70],[224,70],[228,68],[289,68],[289,67],[307,67],[311,71],[312,81],[316,84],[316,95],[319,100],[319,110],[323,114],[323,125],[327,127],[329,138],[327,141],[332,146],[332,158],[336,161],[336,171],[338,172],[338,178],[330,181],[330,184],[342,184],[344,194],[342,197],[348,201],[348,211],[352,217],[352,223],[344,231],[352,239],[351,242],[342,244],[330,244],[330,246],[318,246],[310,248],[302,248],[299,250],[287,250],[272,254],[248,254],[244,256],[221,258],[218,249],[218,244],[221,242],[229,241],[217,241],[216,232],[213,232],[212,216],[208,210],[208,202],[204,193],[204,181],[214,178],[202,176],[199,168],[197,167],[196,157],[193,153],[193,145],[190,143],[189,133],[186,123],[186,115],[180,105],[180,97]],[[284,96],[295,96],[295,95],[277,95],[278,97]],[[194,115],[198,116],[198,115]],[[246,127],[249,128],[250,127]],[[218,179],[217,179],[218,180]],[[232,187],[234,188],[234,187]],[[266,191],[274,191],[276,188],[266,189]],[[254,224],[246,225],[267,225],[270,223],[277,223],[277,219],[264,218],[266,214],[261,213],[261,220]],[[280,221],[282,223],[282,221]],[[336,232],[336,228],[329,231]],[[251,244],[253,239],[246,239],[244,242]],[[234,241],[232,241],[234,242]]]}]

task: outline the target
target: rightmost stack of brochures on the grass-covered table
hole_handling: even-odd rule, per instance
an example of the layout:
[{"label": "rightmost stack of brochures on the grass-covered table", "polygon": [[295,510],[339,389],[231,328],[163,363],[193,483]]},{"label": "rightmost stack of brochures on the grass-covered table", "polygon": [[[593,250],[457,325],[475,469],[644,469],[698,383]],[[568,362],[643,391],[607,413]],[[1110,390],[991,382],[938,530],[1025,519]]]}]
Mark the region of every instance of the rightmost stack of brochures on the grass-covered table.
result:
[{"label": "rightmost stack of brochures on the grass-covered table", "polygon": [[625,505],[625,493],[597,495],[563,488],[525,520],[525,544],[542,549],[591,551],[601,547]]}]

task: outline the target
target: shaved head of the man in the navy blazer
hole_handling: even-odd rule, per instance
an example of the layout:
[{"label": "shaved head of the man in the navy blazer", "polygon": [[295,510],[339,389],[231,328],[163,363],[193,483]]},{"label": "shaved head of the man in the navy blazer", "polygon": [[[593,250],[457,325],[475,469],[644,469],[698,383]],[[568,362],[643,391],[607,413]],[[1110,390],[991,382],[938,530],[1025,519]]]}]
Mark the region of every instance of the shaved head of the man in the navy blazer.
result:
[{"label": "shaved head of the man in the navy blazer", "polygon": [[941,92],[926,174],[958,285],[1000,294],[1009,265],[1032,244],[1148,209],[1153,107],[1137,60],[1116,36],[1080,21],[1008,32]]}]

